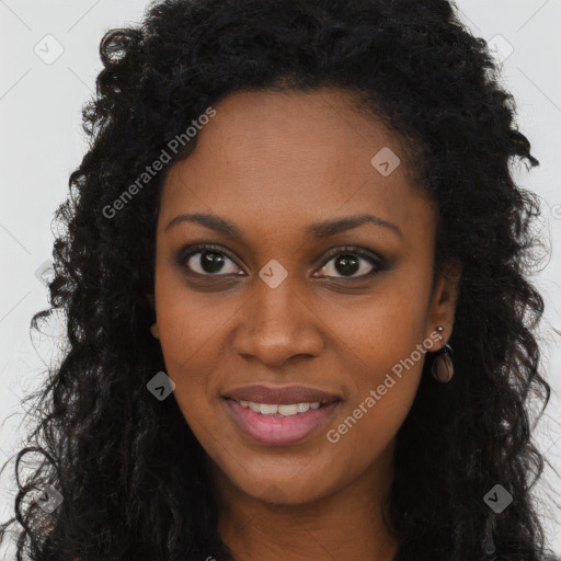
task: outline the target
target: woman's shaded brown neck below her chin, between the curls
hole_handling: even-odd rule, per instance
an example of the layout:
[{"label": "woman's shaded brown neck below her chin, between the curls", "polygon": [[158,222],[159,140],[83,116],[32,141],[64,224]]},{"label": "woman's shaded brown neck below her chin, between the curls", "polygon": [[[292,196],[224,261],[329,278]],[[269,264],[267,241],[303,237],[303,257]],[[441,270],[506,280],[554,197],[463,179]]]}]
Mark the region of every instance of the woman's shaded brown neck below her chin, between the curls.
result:
[{"label": "woman's shaded brown neck below her chin, between the curls", "polygon": [[352,483],[298,504],[255,499],[214,466],[222,540],[236,561],[392,561],[397,541],[381,517],[391,455],[389,446]]}]

